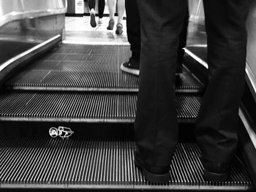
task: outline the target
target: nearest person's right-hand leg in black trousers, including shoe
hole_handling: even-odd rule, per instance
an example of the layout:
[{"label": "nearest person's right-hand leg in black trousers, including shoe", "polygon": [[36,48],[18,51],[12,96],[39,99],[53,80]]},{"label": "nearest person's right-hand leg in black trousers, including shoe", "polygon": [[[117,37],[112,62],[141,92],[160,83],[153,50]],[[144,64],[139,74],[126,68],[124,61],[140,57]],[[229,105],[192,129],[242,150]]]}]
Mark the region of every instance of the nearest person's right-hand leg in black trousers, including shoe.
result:
[{"label": "nearest person's right-hand leg in black trousers, including shoe", "polygon": [[205,180],[226,180],[236,151],[238,107],[244,91],[245,21],[249,1],[203,1],[209,81],[195,133],[202,151]]}]

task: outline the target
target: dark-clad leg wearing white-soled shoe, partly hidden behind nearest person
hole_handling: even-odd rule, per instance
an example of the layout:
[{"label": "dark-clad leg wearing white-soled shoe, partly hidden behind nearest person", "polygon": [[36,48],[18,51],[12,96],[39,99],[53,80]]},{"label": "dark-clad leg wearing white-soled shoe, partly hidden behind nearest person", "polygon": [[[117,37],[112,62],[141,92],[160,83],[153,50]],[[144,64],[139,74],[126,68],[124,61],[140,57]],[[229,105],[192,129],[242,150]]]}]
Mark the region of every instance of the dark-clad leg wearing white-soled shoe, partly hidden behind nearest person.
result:
[{"label": "dark-clad leg wearing white-soled shoe, partly hidden behind nearest person", "polygon": [[132,57],[121,64],[121,70],[130,74],[140,74],[140,14],[137,0],[125,1],[127,13],[127,38],[131,45]]}]

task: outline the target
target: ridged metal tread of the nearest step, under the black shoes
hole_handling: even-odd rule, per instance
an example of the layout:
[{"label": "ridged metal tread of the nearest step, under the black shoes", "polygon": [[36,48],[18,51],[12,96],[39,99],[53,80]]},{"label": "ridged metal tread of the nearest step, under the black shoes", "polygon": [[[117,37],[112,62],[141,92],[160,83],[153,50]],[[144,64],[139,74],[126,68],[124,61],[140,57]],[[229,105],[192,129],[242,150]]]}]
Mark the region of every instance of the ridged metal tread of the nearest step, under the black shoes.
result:
[{"label": "ridged metal tread of the nearest step, under the black shoes", "polygon": [[130,139],[1,139],[1,188],[126,188],[182,190],[247,190],[245,166],[236,158],[226,182],[207,183],[200,151],[180,143],[165,185],[146,182],[135,167],[135,143]]}]

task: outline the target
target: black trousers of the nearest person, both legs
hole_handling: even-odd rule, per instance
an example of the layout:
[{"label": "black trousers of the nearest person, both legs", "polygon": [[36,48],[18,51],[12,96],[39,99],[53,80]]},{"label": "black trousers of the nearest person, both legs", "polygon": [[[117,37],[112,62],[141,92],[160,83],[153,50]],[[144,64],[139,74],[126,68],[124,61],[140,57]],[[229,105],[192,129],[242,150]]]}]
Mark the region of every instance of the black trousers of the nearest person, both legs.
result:
[{"label": "black trousers of the nearest person, both legs", "polygon": [[[209,161],[230,162],[236,150],[249,1],[203,1],[209,82],[195,133]],[[168,166],[178,142],[173,82],[187,0],[138,0],[138,8],[142,44],[135,141],[146,164]]]}]

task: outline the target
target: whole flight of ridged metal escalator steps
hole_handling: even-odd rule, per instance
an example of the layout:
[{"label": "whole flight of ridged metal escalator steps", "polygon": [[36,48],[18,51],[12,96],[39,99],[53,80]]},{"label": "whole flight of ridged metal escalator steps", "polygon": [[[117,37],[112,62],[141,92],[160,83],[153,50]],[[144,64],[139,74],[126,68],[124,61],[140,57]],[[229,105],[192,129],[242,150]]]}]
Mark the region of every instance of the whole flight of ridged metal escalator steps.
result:
[{"label": "whole flight of ridged metal escalator steps", "polygon": [[4,83],[0,188],[252,190],[239,152],[227,181],[203,180],[192,132],[205,85],[187,64],[176,82],[180,135],[171,180],[145,180],[133,163],[138,77],[120,70],[129,56],[124,45],[59,45]]}]

